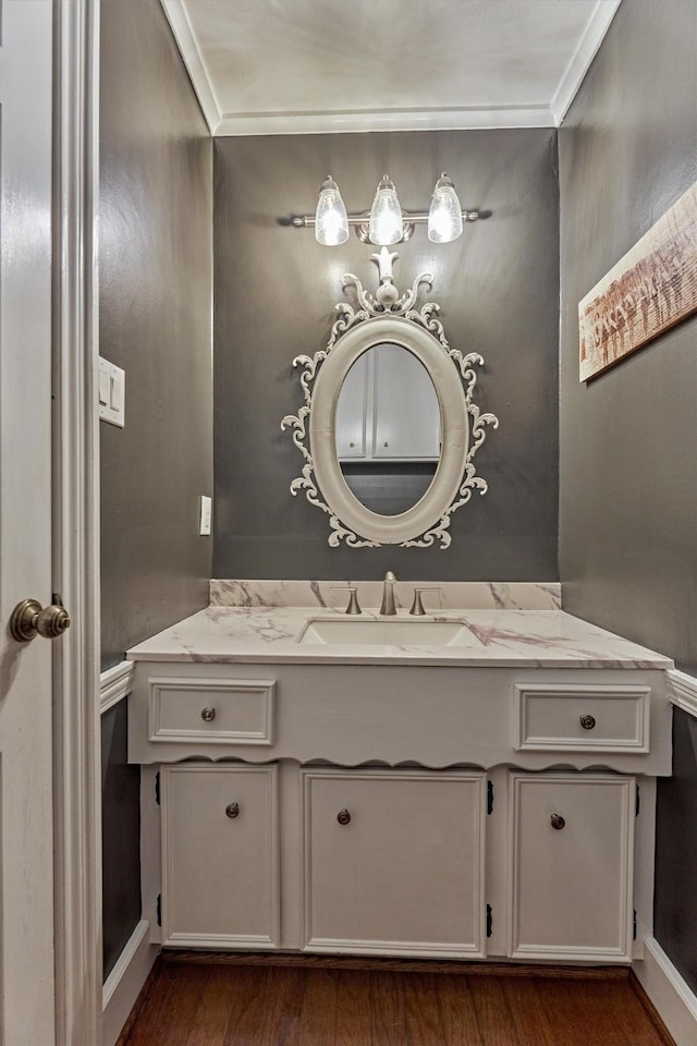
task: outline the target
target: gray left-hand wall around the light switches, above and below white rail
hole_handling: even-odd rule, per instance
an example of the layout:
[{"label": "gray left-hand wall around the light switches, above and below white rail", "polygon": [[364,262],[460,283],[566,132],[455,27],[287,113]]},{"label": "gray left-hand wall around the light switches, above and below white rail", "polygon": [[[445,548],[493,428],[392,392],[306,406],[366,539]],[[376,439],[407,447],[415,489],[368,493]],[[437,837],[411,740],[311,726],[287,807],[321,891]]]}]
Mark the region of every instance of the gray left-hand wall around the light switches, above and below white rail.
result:
[{"label": "gray left-hand wall around the light switches, above and below white rail", "polygon": [[[157,0],[101,4],[100,351],[126,372],[101,425],[102,668],[208,601],[212,147]],[[140,916],[126,706],[102,719],[105,975]]]}]

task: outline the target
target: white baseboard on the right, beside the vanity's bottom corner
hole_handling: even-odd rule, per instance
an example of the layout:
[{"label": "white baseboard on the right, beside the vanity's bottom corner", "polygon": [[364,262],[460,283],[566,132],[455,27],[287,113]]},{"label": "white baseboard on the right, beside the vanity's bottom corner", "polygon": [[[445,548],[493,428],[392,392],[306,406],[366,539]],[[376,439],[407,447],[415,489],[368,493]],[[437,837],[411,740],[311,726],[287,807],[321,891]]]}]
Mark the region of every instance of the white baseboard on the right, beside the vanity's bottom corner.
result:
[{"label": "white baseboard on the right, beside the vanity's bottom corner", "polygon": [[639,983],[658,1010],[676,1046],[697,1043],[697,995],[680,975],[655,937],[644,944],[644,959],[633,963]]}]

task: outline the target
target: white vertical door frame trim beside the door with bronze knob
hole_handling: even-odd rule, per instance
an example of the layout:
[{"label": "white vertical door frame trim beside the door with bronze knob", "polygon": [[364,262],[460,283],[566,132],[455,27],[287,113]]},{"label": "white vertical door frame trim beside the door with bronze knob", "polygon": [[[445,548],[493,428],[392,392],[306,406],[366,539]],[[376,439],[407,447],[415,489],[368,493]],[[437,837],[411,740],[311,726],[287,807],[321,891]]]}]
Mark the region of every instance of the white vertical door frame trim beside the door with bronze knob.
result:
[{"label": "white vertical door frame trim beside the door with bronze knob", "polygon": [[53,0],[53,664],[57,1042],[101,1043],[99,0]]}]

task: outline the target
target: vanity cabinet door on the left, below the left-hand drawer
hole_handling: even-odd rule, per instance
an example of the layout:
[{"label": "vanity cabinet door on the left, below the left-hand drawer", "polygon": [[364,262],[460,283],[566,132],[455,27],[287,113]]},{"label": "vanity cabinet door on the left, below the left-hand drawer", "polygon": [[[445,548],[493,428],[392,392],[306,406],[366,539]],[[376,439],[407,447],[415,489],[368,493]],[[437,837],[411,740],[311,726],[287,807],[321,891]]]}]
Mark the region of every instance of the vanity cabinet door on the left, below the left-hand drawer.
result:
[{"label": "vanity cabinet door on the left, below the left-hand drawer", "polygon": [[162,944],[278,948],[276,766],[161,770]]}]

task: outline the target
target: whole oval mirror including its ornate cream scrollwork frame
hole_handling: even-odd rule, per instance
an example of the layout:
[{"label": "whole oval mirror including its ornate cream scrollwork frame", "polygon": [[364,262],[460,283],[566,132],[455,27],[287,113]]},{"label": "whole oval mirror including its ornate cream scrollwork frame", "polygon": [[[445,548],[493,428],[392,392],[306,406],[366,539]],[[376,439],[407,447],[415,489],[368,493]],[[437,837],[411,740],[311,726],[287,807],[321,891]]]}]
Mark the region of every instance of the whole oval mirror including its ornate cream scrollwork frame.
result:
[{"label": "whole oval mirror including its ornate cream scrollwork frame", "polygon": [[421,273],[400,295],[392,260],[382,247],[372,256],[380,287],[368,294],[352,273],[358,307],[340,314],[325,349],[296,356],[304,404],[288,414],[303,455],[291,494],[304,491],[329,518],[329,544],[352,548],[451,544],[450,518],[487,483],[473,463],[485,427],[498,426],[474,402],[477,352],[451,349],[438,305],[415,307]]}]

